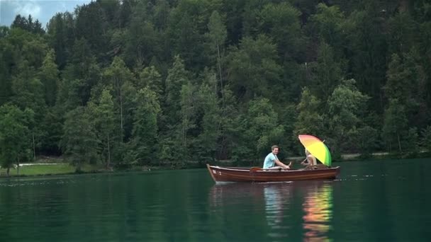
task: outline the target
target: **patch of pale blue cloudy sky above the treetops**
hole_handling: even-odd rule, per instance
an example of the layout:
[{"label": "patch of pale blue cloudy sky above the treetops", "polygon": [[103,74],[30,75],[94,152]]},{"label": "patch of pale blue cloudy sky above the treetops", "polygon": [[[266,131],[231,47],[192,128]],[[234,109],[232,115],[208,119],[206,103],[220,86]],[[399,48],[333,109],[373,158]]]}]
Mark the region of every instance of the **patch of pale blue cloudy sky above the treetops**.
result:
[{"label": "patch of pale blue cloudy sky above the treetops", "polygon": [[72,12],[77,5],[89,2],[91,0],[0,0],[0,25],[10,26],[16,15],[27,18],[30,14],[33,21],[38,19],[45,28],[55,13]]}]

